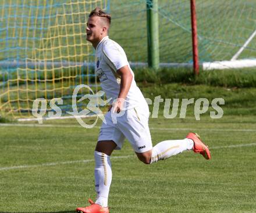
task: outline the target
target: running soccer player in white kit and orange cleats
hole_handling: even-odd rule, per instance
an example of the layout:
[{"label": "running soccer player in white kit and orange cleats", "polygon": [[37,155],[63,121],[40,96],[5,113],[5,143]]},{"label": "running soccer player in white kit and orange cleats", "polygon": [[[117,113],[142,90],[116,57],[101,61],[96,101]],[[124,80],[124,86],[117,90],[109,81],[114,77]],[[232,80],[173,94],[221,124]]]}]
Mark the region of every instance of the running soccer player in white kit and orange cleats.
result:
[{"label": "running soccer player in white kit and orange cleats", "polygon": [[90,205],[77,208],[80,213],[109,212],[110,156],[114,149],[122,148],[125,138],[145,164],[165,160],[184,150],[193,150],[208,160],[211,158],[208,147],[196,133],[189,133],[183,140],[165,140],[152,147],[147,102],[134,81],[125,51],[108,37],[110,24],[111,16],[99,8],[91,11],[87,21],[86,38],[96,50],[95,71],[107,98],[115,101],[111,102],[112,109],[105,114],[106,124],[102,123],[94,151],[97,200],[94,203],[89,199]]}]

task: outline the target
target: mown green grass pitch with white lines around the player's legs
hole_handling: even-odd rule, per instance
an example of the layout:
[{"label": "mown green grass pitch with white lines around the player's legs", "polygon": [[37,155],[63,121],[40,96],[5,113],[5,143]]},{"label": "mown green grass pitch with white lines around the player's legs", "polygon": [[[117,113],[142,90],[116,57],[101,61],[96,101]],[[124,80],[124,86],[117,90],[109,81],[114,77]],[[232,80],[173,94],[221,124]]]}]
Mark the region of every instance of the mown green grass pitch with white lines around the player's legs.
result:
[{"label": "mown green grass pitch with white lines around the player's legs", "polygon": [[[255,212],[254,90],[144,86],[145,96],[223,96],[227,100],[224,115],[212,120],[206,114],[195,121],[189,108],[183,119],[151,118],[154,145],[195,131],[211,148],[212,160],[186,151],[144,165],[126,142],[112,155],[111,213]],[[99,126],[100,122],[85,129],[76,120],[0,124],[0,212],[68,213],[86,205],[87,198],[95,199],[93,151]]]}]

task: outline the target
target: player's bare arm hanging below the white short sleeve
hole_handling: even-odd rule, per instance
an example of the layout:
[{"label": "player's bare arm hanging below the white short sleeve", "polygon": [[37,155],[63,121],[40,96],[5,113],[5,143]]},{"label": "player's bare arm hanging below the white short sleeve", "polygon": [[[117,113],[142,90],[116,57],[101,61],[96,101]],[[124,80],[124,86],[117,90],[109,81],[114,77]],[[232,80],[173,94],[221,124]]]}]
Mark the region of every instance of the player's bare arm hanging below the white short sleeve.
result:
[{"label": "player's bare arm hanging below the white short sleeve", "polygon": [[113,103],[113,111],[119,113],[123,108],[123,103],[125,102],[125,98],[129,89],[131,87],[131,82],[133,81],[133,75],[131,74],[130,68],[128,65],[119,68],[116,71],[121,77],[120,81],[120,91],[118,95],[118,99]]}]

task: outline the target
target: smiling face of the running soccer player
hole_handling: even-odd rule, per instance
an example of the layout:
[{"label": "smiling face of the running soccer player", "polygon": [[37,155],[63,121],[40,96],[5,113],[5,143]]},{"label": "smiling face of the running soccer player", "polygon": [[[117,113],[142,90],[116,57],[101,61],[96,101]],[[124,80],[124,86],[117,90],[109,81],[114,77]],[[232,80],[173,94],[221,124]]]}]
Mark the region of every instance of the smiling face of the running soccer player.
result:
[{"label": "smiling face of the running soccer player", "polygon": [[102,24],[101,18],[98,16],[89,17],[86,27],[86,39],[95,44],[101,40],[102,37]]}]

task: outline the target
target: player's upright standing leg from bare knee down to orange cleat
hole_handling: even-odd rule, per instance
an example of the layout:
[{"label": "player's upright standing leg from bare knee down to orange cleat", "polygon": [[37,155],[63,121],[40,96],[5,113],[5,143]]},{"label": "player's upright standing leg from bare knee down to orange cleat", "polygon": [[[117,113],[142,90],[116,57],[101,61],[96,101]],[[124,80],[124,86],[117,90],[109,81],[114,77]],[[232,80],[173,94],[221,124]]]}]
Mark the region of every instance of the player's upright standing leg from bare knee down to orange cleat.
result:
[{"label": "player's upright standing leg from bare knee down to orange cleat", "polygon": [[95,203],[89,199],[88,207],[77,208],[79,213],[108,213],[108,194],[112,180],[112,170],[110,156],[116,148],[113,140],[98,141],[94,151],[95,158],[95,190],[97,200]]}]

